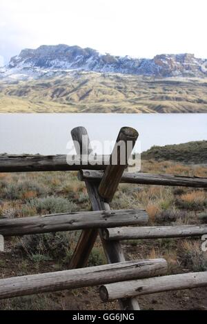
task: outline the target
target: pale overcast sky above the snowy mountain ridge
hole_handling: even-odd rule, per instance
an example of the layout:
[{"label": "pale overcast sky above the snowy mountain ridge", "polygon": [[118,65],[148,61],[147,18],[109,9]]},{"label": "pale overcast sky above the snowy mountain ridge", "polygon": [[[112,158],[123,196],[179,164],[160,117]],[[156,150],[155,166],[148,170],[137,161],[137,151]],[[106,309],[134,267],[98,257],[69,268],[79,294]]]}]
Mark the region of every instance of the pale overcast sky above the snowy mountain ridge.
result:
[{"label": "pale overcast sky above the snowy mountain ridge", "polygon": [[206,0],[0,0],[0,65],[23,48],[59,43],[207,59],[206,12]]}]

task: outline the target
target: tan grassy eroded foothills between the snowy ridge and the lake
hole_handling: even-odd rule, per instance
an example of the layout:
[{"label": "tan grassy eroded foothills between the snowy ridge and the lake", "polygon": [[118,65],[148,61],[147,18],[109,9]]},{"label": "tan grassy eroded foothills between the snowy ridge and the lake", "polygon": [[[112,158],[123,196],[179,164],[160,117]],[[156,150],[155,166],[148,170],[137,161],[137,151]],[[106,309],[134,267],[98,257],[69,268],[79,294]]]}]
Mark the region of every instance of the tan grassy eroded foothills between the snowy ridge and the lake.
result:
[{"label": "tan grassy eroded foothills between the snowy ridge and the lake", "polygon": [[0,112],[207,112],[206,85],[204,79],[91,72],[15,84],[0,81]]}]

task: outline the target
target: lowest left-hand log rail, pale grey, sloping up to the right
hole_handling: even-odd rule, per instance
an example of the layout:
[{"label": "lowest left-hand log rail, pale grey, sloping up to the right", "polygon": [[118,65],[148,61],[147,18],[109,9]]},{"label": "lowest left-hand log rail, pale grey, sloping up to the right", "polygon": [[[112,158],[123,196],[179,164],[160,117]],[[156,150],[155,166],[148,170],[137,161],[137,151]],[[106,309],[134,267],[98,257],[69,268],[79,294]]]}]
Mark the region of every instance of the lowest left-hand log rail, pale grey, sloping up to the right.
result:
[{"label": "lowest left-hand log rail, pale grey, sloping up to the right", "polygon": [[166,274],[164,259],[126,261],[77,270],[0,279],[0,299]]}]

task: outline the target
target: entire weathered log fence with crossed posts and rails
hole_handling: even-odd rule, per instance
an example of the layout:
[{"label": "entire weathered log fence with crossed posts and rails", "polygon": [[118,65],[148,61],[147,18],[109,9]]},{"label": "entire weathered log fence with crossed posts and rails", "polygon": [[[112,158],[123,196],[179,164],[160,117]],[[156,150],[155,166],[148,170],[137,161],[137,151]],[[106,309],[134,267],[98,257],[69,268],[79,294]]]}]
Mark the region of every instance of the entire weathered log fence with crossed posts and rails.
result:
[{"label": "entire weathered log fence with crossed posts and rails", "polygon": [[[207,285],[207,272],[164,276],[167,272],[167,263],[164,259],[126,261],[120,243],[125,239],[201,236],[207,234],[207,225],[143,227],[142,225],[148,223],[145,210],[110,210],[109,205],[120,182],[207,188],[207,179],[125,172],[127,163],[121,165],[119,148],[122,144],[126,145],[128,141],[132,142],[132,146],[135,145],[138,133],[132,128],[121,128],[110,156],[92,155],[89,138],[88,141],[82,141],[83,135],[88,136],[85,128],[75,128],[71,134],[75,147],[76,143],[79,143],[81,153],[84,150],[88,156],[90,155],[88,161],[83,161],[81,155],[3,154],[0,156],[0,172],[79,170],[79,179],[86,183],[92,206],[92,212],[1,219],[0,234],[3,236],[70,230],[82,230],[82,232],[70,260],[70,270],[0,279],[0,298],[101,285],[100,296],[103,301],[118,299],[121,309],[139,310],[137,296],[140,294]],[[128,151],[126,161],[131,153]],[[112,165],[112,156],[115,152],[119,152],[118,160],[116,165]],[[94,161],[97,163],[95,164]],[[130,225],[139,225],[139,227],[130,227]],[[108,265],[86,268],[98,235],[101,237]]]}]

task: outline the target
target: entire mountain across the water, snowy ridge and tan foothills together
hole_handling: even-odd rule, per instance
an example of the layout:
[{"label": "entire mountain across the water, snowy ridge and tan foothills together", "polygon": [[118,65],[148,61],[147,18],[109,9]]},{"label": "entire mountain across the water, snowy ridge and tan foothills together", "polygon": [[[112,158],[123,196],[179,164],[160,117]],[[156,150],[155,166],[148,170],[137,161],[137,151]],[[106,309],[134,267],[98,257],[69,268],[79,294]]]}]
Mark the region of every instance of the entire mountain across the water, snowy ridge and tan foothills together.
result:
[{"label": "entire mountain across the water, snowy ridge and tan foothills together", "polygon": [[0,69],[0,112],[206,111],[207,61],[193,54],[133,59],[42,45]]}]

